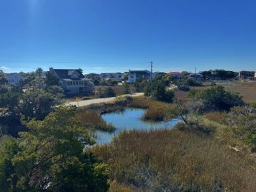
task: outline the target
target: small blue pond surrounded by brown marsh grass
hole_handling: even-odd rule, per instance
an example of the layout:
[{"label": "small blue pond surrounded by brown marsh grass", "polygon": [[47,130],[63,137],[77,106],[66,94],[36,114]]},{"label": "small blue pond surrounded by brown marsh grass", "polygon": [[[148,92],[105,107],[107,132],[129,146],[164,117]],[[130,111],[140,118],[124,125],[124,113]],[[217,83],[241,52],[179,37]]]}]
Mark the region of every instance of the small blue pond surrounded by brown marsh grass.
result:
[{"label": "small blue pond surrounded by brown marsh grass", "polygon": [[122,130],[160,130],[163,128],[173,128],[179,119],[171,121],[142,121],[140,117],[144,115],[146,109],[126,108],[124,111],[102,114],[102,119],[106,123],[112,123],[116,127],[114,132],[97,131],[96,143],[105,144],[111,142],[114,136],[117,136]]}]

